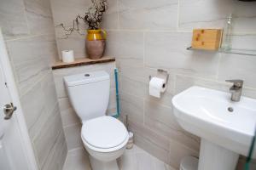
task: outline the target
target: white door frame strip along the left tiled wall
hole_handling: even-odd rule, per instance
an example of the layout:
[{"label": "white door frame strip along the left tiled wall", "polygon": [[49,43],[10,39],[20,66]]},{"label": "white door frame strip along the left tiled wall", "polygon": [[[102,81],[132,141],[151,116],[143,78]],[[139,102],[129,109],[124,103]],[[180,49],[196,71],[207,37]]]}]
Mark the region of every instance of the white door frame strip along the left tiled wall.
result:
[{"label": "white door frame strip along the left tiled wall", "polygon": [[20,130],[20,137],[22,141],[22,150],[26,154],[26,161],[27,164],[30,167],[30,170],[38,170],[38,165],[36,161],[36,157],[34,155],[34,152],[32,150],[32,142],[28,134],[28,129],[26,127],[25,117],[20,105],[20,97],[18,94],[18,89],[15,84],[15,77],[12,71],[12,67],[9,61],[9,56],[7,53],[7,48],[5,46],[5,42],[3,39],[2,30],[0,27],[0,65],[2,65],[3,68],[3,75],[5,76],[5,82],[7,83],[7,86],[9,88],[9,95],[12,99],[15,106],[17,106],[17,111],[15,111],[15,116],[18,127]]}]

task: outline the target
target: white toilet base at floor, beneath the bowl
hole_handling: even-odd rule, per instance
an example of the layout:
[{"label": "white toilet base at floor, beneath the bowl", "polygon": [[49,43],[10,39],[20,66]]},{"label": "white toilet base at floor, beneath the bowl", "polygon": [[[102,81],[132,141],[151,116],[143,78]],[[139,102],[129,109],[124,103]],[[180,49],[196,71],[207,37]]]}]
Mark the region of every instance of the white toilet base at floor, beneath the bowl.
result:
[{"label": "white toilet base at floor, beneath the bowl", "polygon": [[92,170],[119,170],[119,166],[116,160],[99,161],[92,156],[89,156],[89,159]]}]

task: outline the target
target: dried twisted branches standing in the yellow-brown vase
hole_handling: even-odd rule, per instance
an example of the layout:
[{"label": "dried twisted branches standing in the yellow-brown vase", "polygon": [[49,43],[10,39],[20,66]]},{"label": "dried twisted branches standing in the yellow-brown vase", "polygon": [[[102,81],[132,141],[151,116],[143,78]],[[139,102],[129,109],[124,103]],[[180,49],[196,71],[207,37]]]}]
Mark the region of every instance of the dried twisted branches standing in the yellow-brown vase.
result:
[{"label": "dried twisted branches standing in the yellow-brown vase", "polygon": [[108,9],[108,1],[107,0],[91,0],[93,4],[92,7],[85,12],[84,15],[78,14],[77,17],[73,20],[73,26],[67,28],[61,23],[58,26],[61,26],[65,32],[65,37],[68,38],[74,31],[78,32],[80,35],[84,35],[84,31],[80,30],[80,21],[83,20],[84,23],[88,24],[88,30],[98,30],[100,29],[102,22],[102,15]]}]

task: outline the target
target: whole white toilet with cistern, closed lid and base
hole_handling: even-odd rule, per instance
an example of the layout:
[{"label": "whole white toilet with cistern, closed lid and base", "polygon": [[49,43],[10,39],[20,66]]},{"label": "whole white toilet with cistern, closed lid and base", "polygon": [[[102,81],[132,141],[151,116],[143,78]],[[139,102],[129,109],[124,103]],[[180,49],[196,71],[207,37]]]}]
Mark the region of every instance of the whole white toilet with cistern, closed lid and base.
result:
[{"label": "whole white toilet with cistern, closed lid and base", "polygon": [[83,123],[81,138],[93,170],[119,170],[116,159],[129,134],[122,122],[106,116],[110,80],[105,71],[64,77],[69,99]]}]

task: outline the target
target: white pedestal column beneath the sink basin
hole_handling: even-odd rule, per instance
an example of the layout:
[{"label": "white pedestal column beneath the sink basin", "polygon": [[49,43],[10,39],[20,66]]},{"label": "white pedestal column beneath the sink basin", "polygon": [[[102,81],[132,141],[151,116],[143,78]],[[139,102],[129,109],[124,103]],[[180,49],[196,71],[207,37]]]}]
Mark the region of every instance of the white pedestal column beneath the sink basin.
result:
[{"label": "white pedestal column beneath the sink basin", "polygon": [[239,155],[201,139],[198,170],[235,170]]}]

